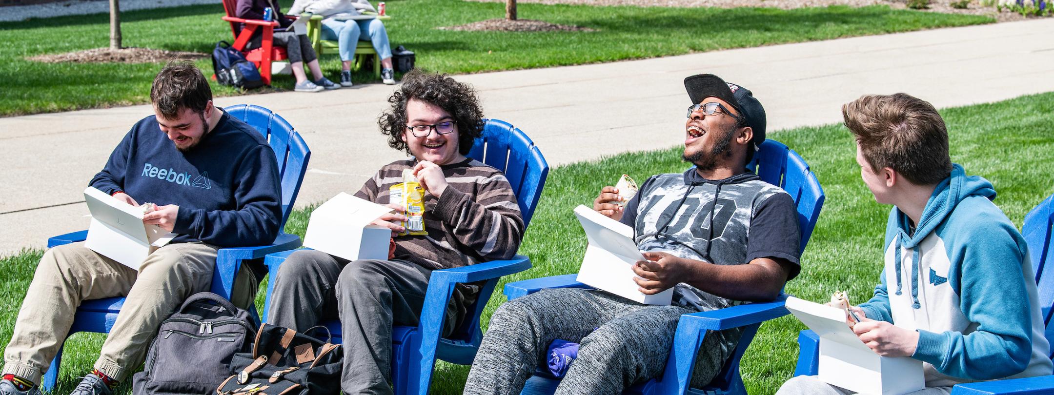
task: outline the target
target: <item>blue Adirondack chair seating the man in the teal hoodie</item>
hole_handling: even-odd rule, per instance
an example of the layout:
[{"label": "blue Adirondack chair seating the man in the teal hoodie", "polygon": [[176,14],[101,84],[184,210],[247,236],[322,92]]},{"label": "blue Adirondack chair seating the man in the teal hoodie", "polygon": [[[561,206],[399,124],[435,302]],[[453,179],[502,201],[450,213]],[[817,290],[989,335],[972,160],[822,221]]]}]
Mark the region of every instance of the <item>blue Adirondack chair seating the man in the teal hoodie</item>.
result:
[{"label": "blue Adirondack chair seating the man in the teal hoodie", "polygon": [[[1047,341],[1051,343],[1048,356],[1054,358],[1054,240],[1051,240],[1051,225],[1054,224],[1054,195],[1049,196],[1024,216],[1021,234],[1029,244],[1029,257],[1036,273],[1039,291],[1039,309],[1047,331]],[[812,330],[798,334],[798,366],[794,375],[817,375],[819,373],[820,338]],[[952,395],[1026,395],[1054,394],[1054,375],[1018,378],[1013,380],[982,381],[958,384],[952,388]]]}]

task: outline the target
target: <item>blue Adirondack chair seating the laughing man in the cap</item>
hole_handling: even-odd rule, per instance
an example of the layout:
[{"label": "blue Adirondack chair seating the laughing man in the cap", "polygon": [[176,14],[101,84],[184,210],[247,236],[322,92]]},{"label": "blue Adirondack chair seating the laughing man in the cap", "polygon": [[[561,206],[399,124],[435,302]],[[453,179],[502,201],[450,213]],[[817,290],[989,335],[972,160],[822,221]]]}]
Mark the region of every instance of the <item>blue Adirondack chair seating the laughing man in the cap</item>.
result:
[{"label": "blue Adirondack chair seating the laughing man in the cap", "polygon": [[[820,187],[816,175],[808,170],[808,164],[798,153],[774,140],[765,140],[761,144],[748,167],[756,170],[765,182],[783,187],[794,198],[798,208],[798,225],[801,229],[801,249],[804,251],[809,236],[813,235],[816,220],[820,216],[820,209],[823,206],[823,189]],[[511,300],[550,288],[590,289],[589,285],[575,281],[575,276],[578,275],[567,274],[511,282],[505,285],[505,295]],[[788,314],[783,307],[786,295],[780,295],[769,302],[740,304],[711,312],[682,315],[674,337],[674,349],[670,350],[662,377],[633,386],[626,393],[745,395],[746,389],[739,376],[739,360],[754,339],[761,322]],[[703,389],[689,388],[696,354],[706,331],[740,327],[744,330],[739,345],[725,361],[718,376]],[[559,383],[559,379],[538,371],[527,380],[523,394],[552,394]]]}]

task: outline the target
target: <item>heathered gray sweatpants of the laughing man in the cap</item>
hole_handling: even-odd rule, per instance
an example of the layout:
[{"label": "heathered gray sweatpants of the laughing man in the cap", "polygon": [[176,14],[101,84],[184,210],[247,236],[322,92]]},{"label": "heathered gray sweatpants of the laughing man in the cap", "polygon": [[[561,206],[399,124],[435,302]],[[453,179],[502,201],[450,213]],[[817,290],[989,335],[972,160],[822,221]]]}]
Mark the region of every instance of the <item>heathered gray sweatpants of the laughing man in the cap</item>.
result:
[{"label": "heathered gray sweatpants of the laughing man in the cap", "polygon": [[[534,370],[545,366],[553,339],[579,342],[579,356],[557,394],[621,394],[666,368],[678,305],[645,305],[603,291],[543,290],[497,309],[472,362],[465,394],[519,394]],[[596,330],[594,330],[596,329]],[[728,351],[718,333],[707,333],[691,377],[710,381]]]}]

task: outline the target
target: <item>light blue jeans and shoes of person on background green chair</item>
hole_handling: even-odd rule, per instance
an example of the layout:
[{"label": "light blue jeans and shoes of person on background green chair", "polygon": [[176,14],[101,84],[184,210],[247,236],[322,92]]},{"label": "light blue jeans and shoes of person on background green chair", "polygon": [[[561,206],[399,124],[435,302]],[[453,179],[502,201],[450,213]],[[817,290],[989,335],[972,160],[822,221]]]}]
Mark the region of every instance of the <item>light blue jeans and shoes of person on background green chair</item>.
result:
[{"label": "light blue jeans and shoes of person on background green chair", "polygon": [[370,41],[380,58],[380,79],[384,83],[395,83],[395,73],[392,70],[392,50],[388,44],[388,31],[379,19],[365,20],[323,20],[323,39],[337,40],[340,53],[340,84],[351,86],[351,62],[355,57],[355,46],[358,41]]}]

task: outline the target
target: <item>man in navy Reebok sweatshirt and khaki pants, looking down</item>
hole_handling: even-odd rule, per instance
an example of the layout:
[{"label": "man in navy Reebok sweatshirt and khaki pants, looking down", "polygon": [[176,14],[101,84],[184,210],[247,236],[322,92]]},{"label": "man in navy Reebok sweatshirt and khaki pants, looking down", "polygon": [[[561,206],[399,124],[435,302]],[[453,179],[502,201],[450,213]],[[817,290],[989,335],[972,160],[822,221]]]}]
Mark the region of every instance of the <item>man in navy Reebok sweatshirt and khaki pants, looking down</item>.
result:
[{"label": "man in navy Reebok sweatshirt and khaki pants, looking down", "polygon": [[[138,271],[83,242],[48,250],[4,350],[0,395],[40,394],[41,373],[81,301],[123,296],[95,369],[73,392],[112,394],[142,362],[161,321],[188,296],[210,289],[218,249],[277,236],[278,166],[259,132],[214,106],[208,80],[190,62],[161,70],[150,97],[155,115],[132,126],[90,185],[129,204],[153,202],[143,222],[179,236]],[[248,272],[239,274],[236,303],[251,302],[253,282]]]}]

